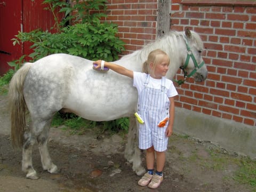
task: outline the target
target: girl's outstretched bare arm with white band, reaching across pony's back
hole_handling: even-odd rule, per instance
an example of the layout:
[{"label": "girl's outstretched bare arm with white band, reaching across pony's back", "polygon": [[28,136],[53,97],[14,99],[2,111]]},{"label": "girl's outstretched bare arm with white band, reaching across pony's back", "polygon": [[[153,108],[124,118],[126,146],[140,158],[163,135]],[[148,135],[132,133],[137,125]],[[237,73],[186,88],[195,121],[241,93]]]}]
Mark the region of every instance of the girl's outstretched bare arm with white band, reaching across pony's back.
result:
[{"label": "girl's outstretched bare arm with white band, reaching across pony's back", "polygon": [[[95,67],[96,69],[99,69],[101,67],[101,61],[102,60],[98,60],[98,61],[93,61],[93,64],[96,64],[97,66]],[[129,70],[129,69],[126,69],[125,67],[123,66],[119,66],[119,65],[116,65],[114,63],[110,63],[110,62],[106,62],[104,63],[104,66],[111,69],[111,70],[114,70],[116,73],[119,73],[121,75],[125,75],[127,77],[131,77],[133,78],[133,71],[132,70]]]}]

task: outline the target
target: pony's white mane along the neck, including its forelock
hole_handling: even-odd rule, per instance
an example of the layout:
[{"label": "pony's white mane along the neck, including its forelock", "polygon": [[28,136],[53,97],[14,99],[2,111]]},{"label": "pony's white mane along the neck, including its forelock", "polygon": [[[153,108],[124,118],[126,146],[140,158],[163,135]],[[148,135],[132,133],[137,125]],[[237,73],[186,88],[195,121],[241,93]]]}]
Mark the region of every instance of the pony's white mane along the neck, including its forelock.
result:
[{"label": "pony's white mane along the neck, including its forelock", "polygon": [[[191,30],[190,30],[191,31]],[[136,57],[137,61],[143,63],[144,61],[147,60],[148,58],[148,54],[155,50],[155,49],[162,49],[164,50],[168,55],[173,55],[175,53],[175,51],[177,50],[179,41],[183,41],[183,35],[185,35],[185,31],[169,31],[169,33],[165,36],[163,36],[162,38],[157,39],[154,42],[150,42],[148,44],[146,44],[142,49],[134,51],[131,54],[125,55],[123,58],[130,58],[130,57]],[[203,42],[202,39],[200,38],[200,36],[194,32],[191,31],[191,40],[190,42],[194,42],[195,45],[199,48],[199,49],[203,49]],[[166,51],[167,50],[167,51]]]}]

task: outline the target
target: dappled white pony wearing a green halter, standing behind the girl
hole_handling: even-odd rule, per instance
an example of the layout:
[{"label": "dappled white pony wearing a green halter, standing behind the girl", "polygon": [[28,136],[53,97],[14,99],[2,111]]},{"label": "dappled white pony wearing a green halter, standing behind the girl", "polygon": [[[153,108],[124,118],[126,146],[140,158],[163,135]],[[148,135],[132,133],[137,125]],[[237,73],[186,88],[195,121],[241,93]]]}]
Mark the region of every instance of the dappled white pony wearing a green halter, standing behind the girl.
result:
[{"label": "dappled white pony wearing a green halter, standing behind the girl", "polygon": [[[188,29],[186,33],[172,31],[114,63],[141,71],[142,63],[155,49],[162,49],[171,59],[167,78],[172,79],[179,67],[185,72],[185,78],[193,76],[198,82],[206,78],[207,70],[200,54],[202,40]],[[22,147],[22,170],[26,177],[38,179],[32,164],[32,147],[36,142],[43,169],[57,172],[47,149],[47,140],[53,115],[61,109],[91,121],[130,117],[125,158],[133,163],[133,171],[138,175],[145,173],[134,118],[138,94],[132,84],[129,77],[111,70],[100,73],[92,69],[92,61],[68,54],[52,54],[34,63],[25,63],[10,82],[9,103],[12,144]],[[28,128],[26,109],[31,118]]]}]

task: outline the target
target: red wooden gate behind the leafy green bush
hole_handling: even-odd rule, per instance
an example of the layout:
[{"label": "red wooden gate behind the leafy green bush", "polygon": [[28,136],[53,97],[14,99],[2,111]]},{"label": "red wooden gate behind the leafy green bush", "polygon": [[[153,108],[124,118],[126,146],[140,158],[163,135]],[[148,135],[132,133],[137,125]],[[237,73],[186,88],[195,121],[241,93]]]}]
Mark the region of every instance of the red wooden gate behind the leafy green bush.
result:
[{"label": "red wooden gate behind the leafy green bush", "polygon": [[29,32],[41,28],[51,31],[54,20],[44,9],[44,0],[0,0],[0,75],[10,68],[7,62],[29,54],[29,44],[13,46],[11,39],[18,31]]}]

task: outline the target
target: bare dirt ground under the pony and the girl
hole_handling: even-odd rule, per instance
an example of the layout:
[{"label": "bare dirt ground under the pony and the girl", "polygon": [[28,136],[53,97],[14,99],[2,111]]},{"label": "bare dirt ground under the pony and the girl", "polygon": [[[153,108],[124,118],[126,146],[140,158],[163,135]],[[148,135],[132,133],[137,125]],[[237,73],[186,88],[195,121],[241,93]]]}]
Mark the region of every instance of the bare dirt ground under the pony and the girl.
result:
[{"label": "bare dirt ground under the pony and the girl", "polygon": [[[52,128],[49,150],[58,174],[42,170],[37,147],[34,168],[39,180],[29,180],[21,171],[21,151],[14,151],[9,138],[6,96],[0,96],[0,191],[152,191],[137,185],[139,177],[124,159],[125,139],[119,135],[69,135]],[[232,178],[238,165],[231,155],[218,152],[207,143],[173,135],[166,153],[164,181],[155,191],[220,192],[252,191]],[[145,158],[143,157],[145,165]]]}]

